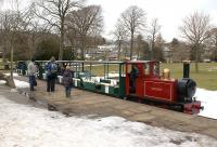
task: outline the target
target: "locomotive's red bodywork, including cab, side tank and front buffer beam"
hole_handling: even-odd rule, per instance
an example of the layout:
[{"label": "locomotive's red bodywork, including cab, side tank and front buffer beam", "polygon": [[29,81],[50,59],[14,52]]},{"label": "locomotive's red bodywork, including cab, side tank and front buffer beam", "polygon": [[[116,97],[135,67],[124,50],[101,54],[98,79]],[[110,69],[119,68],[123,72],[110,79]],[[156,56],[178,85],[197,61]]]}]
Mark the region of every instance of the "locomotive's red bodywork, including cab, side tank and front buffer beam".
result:
[{"label": "locomotive's red bodywork, including cab, side tank and front buffer beam", "polygon": [[[130,66],[136,65],[139,75],[136,80],[136,92],[130,92]],[[144,65],[149,66],[149,72],[144,69]],[[157,68],[155,68],[157,67]],[[149,98],[168,104],[178,104],[177,79],[163,79],[159,76],[158,62],[128,62],[126,64],[126,95],[133,94],[141,98]],[[200,102],[183,104],[183,111],[187,113],[197,113],[201,109]]]}]

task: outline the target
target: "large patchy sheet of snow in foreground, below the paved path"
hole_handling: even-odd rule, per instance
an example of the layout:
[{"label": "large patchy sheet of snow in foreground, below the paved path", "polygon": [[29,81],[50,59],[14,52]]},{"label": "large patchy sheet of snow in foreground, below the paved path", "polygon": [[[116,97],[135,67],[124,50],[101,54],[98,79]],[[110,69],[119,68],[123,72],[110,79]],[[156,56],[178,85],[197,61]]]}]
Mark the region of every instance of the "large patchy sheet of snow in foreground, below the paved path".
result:
[{"label": "large patchy sheet of snow in foreground, below the paved path", "polygon": [[119,117],[66,118],[0,96],[1,147],[216,147],[207,136],[175,132]]}]

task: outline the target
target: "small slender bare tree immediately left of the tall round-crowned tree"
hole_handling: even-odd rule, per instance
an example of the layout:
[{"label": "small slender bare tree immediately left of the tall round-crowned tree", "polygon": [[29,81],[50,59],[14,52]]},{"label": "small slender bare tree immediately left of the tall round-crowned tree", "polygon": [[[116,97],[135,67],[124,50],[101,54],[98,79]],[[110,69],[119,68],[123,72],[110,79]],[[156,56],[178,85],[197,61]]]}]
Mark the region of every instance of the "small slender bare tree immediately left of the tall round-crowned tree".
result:
[{"label": "small slender bare tree immediately left of the tall round-crowned tree", "polygon": [[118,46],[117,59],[120,61],[122,44],[124,40],[126,40],[127,38],[127,30],[125,29],[124,24],[120,23],[119,19],[117,21],[113,35],[115,38],[115,42],[117,43]]}]

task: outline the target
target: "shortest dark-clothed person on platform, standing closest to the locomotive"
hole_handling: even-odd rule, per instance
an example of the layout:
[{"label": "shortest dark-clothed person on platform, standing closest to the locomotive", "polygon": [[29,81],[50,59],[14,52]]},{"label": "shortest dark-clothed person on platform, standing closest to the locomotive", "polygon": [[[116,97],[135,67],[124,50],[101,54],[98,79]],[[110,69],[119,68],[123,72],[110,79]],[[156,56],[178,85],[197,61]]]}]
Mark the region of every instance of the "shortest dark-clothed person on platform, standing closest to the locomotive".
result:
[{"label": "shortest dark-clothed person on platform, standing closest to the locomotive", "polygon": [[65,85],[66,97],[71,97],[72,80],[71,67],[66,66],[66,69],[63,72],[63,84]]}]

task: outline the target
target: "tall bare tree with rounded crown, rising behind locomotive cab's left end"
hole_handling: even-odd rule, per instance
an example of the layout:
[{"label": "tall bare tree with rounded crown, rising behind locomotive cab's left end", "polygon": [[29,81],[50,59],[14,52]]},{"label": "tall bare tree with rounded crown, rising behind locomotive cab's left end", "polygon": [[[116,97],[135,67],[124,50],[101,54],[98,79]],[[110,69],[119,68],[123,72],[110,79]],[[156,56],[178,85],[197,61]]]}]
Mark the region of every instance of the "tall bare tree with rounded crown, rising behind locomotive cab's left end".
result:
[{"label": "tall bare tree with rounded crown, rising behind locomotive cab's left end", "polygon": [[137,5],[131,5],[122,14],[122,21],[130,32],[130,59],[132,59],[135,34],[145,27],[145,13]]}]

